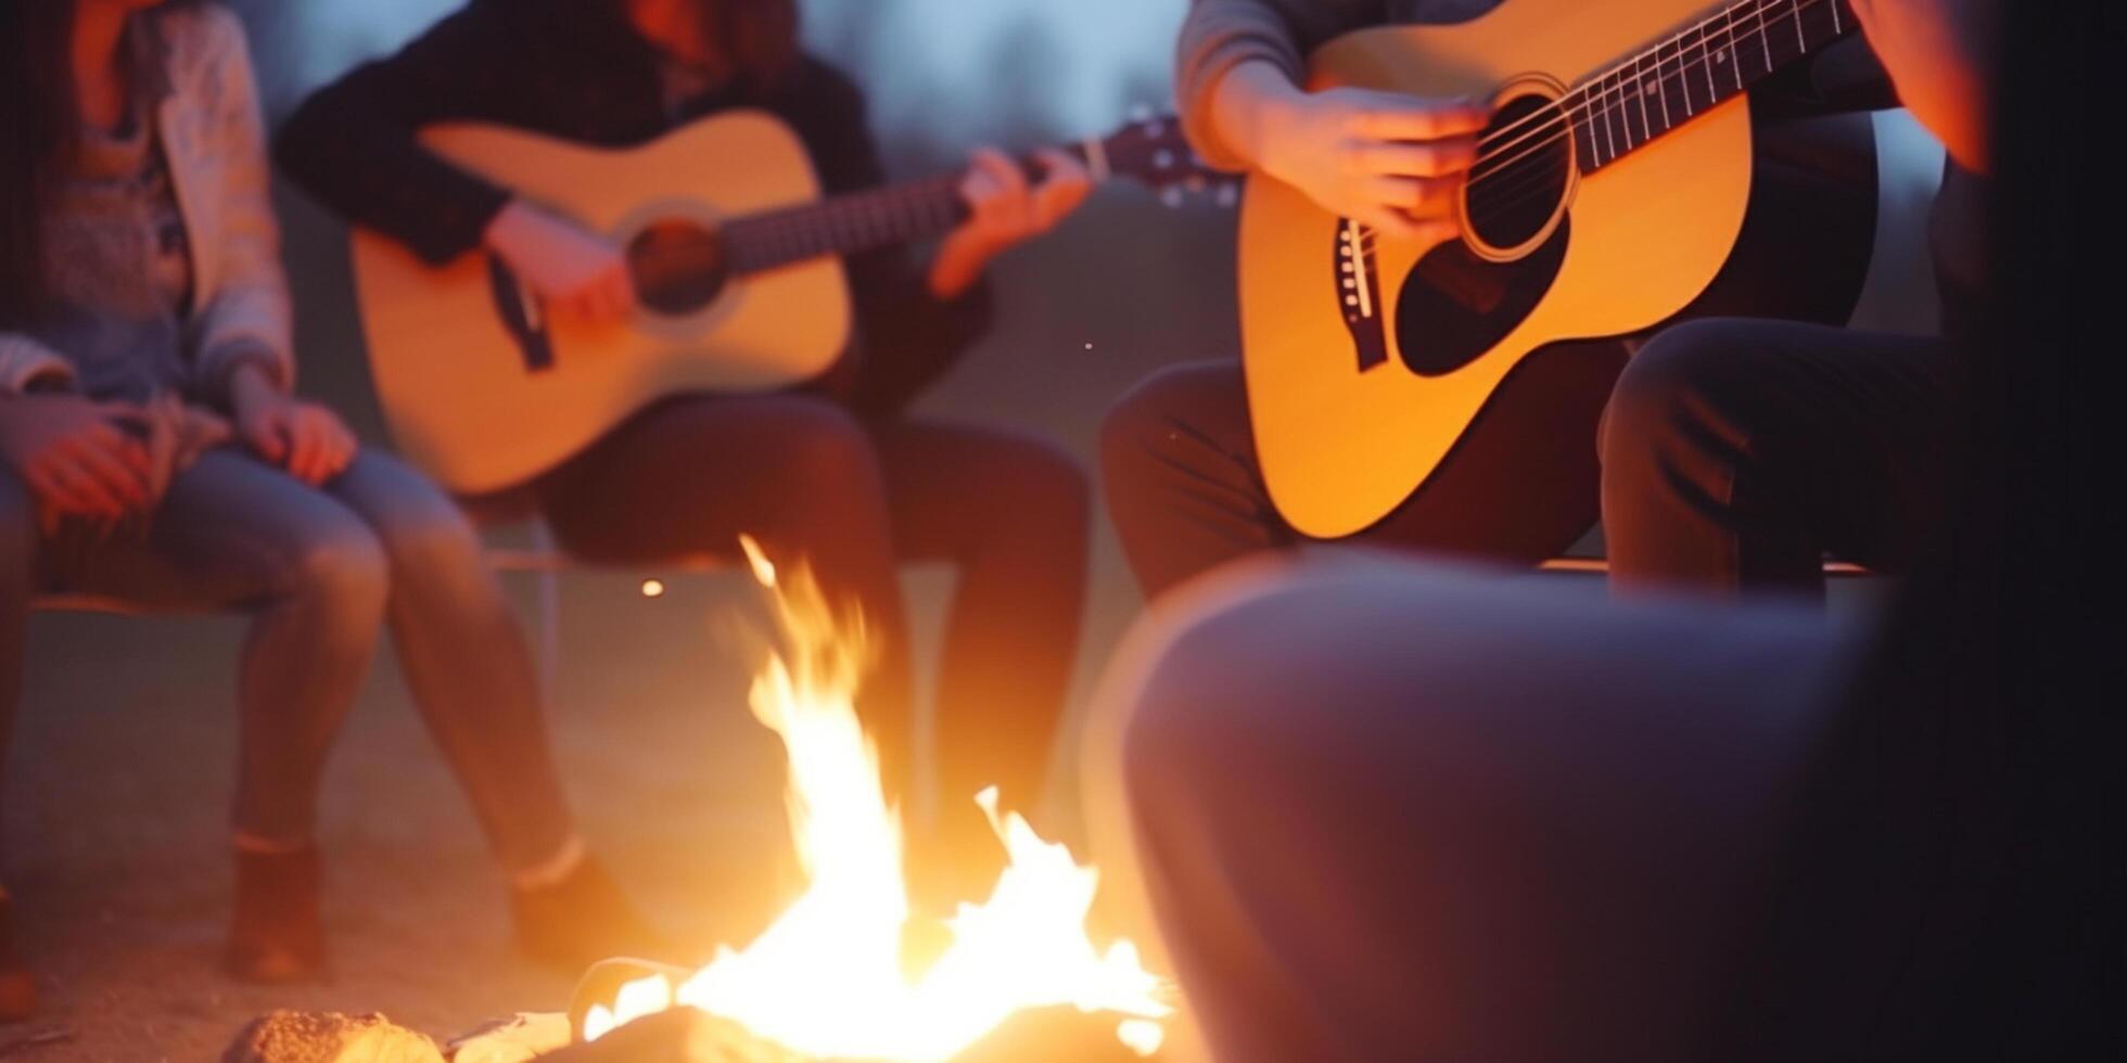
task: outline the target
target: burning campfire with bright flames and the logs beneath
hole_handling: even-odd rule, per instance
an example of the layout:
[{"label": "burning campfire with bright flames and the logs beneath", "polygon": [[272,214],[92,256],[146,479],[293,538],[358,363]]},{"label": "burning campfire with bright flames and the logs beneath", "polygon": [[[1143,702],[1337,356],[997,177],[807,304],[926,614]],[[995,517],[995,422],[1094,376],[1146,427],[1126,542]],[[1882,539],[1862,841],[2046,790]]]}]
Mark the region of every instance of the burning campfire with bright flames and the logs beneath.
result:
[{"label": "burning campfire with bright flames and the logs beneath", "polygon": [[[749,702],[783,738],[785,808],[804,893],[747,948],[702,969],[634,959],[596,965],[568,1014],[519,1014],[447,1044],[379,1014],[272,1012],[223,1063],[1089,1063],[1159,1050],[1170,986],[1123,940],[1085,923],[1100,872],[1042,840],[995,791],[972,795],[1008,865],[989,897],[944,921],[951,944],[910,974],[900,814],[857,721],[864,617],[838,612],[813,574],[778,572],[747,540],[774,640]],[[938,927],[919,927],[921,931]],[[919,933],[919,938],[929,938]],[[704,1044],[713,1042],[713,1044]]]}]

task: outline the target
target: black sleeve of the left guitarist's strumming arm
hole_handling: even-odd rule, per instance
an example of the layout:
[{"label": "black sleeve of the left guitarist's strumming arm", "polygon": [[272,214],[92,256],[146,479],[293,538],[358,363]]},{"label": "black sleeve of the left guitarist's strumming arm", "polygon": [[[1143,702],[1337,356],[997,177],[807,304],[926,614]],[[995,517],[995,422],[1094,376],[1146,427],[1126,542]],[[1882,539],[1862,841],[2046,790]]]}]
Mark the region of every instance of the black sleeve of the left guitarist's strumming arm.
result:
[{"label": "black sleeve of the left guitarist's strumming arm", "polygon": [[423,149],[430,123],[502,111],[525,66],[474,2],[393,57],[319,89],[281,128],[281,170],[328,208],[442,264],[470,251],[510,196]]}]

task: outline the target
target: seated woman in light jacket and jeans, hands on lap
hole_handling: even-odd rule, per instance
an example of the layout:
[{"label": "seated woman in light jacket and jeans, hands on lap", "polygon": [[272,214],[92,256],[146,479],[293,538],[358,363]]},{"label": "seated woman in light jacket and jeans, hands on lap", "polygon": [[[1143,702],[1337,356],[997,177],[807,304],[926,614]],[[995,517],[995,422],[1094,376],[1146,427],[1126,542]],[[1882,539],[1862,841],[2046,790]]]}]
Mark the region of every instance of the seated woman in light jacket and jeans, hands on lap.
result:
[{"label": "seated woman in light jacket and jeans, hands on lap", "polygon": [[[515,882],[521,944],[562,963],[640,946],[585,857],[472,529],[289,391],[242,26],[198,2],[4,4],[0,70],[0,738],[34,593],[249,610],[225,963],[313,978],[319,772],[389,621]],[[0,1003],[23,1014],[4,946],[0,901]]]}]

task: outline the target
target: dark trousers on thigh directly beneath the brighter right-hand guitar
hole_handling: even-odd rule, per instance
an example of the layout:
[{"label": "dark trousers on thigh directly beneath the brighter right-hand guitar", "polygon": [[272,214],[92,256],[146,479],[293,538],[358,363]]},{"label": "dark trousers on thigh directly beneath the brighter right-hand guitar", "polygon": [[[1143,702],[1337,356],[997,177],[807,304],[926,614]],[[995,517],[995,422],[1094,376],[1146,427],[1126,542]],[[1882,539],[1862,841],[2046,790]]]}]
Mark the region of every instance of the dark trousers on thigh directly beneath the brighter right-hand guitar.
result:
[{"label": "dark trousers on thigh directly beneath the brighter right-hand guitar", "polygon": [[[1451,461],[1353,540],[1531,566],[1572,546],[1600,508],[1595,425],[1625,353],[1623,342],[1582,342],[1531,355]],[[1176,366],[1138,385],[1108,412],[1100,461],[1123,553],[1149,595],[1304,542],[1263,487],[1238,361]]]}]

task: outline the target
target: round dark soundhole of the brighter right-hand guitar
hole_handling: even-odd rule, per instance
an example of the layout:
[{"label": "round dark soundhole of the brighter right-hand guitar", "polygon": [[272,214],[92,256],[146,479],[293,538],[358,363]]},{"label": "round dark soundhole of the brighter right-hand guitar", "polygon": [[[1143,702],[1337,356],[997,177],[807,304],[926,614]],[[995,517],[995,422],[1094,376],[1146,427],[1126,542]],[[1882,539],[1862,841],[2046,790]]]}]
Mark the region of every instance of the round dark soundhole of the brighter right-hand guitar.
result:
[{"label": "round dark soundhole of the brighter right-hand guitar", "polygon": [[1489,259],[1517,257],[1544,234],[1572,187],[1574,142],[1559,104],[1508,100],[1485,128],[1466,185],[1470,240]]}]

